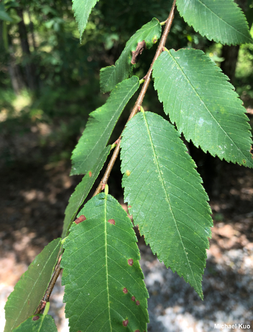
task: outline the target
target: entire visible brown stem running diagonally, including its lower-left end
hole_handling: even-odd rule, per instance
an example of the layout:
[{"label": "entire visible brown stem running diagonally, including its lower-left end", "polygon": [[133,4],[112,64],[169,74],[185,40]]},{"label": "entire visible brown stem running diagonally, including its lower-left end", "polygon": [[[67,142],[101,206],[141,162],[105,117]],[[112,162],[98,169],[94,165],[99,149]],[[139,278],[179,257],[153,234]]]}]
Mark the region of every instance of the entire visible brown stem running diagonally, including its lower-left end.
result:
[{"label": "entire visible brown stem running diagonally, including its lower-left end", "polygon": [[[171,24],[172,24],[172,21],[173,21],[173,18],[174,18],[175,5],[176,5],[176,0],[174,0],[174,2],[173,2],[173,5],[172,5],[172,8],[171,8],[169,17],[166,20],[166,26],[165,26],[165,29],[164,29],[163,36],[162,36],[162,38],[161,38],[161,40],[159,42],[158,48],[156,50],[156,53],[155,53],[155,56],[154,56],[153,61],[151,63],[151,66],[149,68],[148,74],[145,77],[145,82],[143,84],[142,90],[141,90],[141,92],[139,94],[139,97],[136,100],[136,103],[135,103],[135,105],[133,107],[133,110],[132,110],[132,112],[131,112],[128,120],[127,120],[127,123],[137,113],[137,111],[140,110],[140,106],[142,105],[145,93],[147,91],[147,88],[148,88],[148,85],[149,85],[149,82],[150,82],[150,76],[151,76],[151,73],[152,73],[153,63],[158,58],[158,56],[162,53],[163,48],[164,48],[165,43],[166,43],[166,39],[168,37],[169,31],[170,31],[170,28],[171,28]],[[122,133],[121,133],[121,135],[122,135]],[[118,157],[118,154],[120,152],[121,135],[120,135],[120,137],[118,139],[117,146],[114,149],[113,154],[111,156],[111,159],[110,159],[110,161],[108,163],[108,166],[107,166],[107,169],[105,171],[105,174],[104,174],[104,176],[103,176],[100,184],[98,185],[98,187],[97,187],[97,189],[96,189],[96,191],[95,191],[95,193],[94,193],[93,196],[96,196],[97,194],[99,194],[101,192],[101,190],[102,190],[103,184],[106,184],[107,181],[108,181],[111,169],[112,169],[112,167],[114,165],[114,162],[116,161],[116,159]],[[51,281],[49,283],[47,291],[45,291],[45,295],[44,295],[43,299],[40,301],[40,304],[38,305],[38,307],[37,307],[36,312],[35,312],[34,315],[39,314],[40,311],[41,311],[41,306],[43,305],[43,303],[49,301],[49,298],[50,298],[52,290],[53,290],[53,288],[55,286],[56,280],[57,280],[57,278],[58,278],[58,276],[59,276],[59,274],[60,274],[60,272],[62,270],[60,268],[60,263],[61,263],[61,260],[60,260],[60,262],[57,265],[57,268],[56,268],[56,270],[55,270],[55,272],[53,274],[53,277],[52,277],[52,279],[51,279]]]}]

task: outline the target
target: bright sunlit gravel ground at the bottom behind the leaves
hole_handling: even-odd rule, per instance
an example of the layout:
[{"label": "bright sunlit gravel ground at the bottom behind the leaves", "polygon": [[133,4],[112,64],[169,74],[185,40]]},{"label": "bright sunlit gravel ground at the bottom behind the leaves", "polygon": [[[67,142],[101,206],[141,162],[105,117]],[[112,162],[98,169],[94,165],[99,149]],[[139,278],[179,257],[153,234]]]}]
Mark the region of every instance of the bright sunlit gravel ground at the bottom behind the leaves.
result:
[{"label": "bright sunlit gravel ground at the bottom behind the leaves", "polygon": [[[226,226],[219,227],[219,230]],[[228,239],[228,238],[227,238]],[[141,267],[149,291],[149,332],[253,331],[249,329],[215,329],[215,324],[253,324],[253,244],[243,249],[226,250],[211,244],[203,276],[204,301],[183,278],[167,269],[140,241]],[[25,270],[25,267],[24,267]],[[20,270],[21,272],[21,270]],[[2,284],[0,297],[1,324],[4,329],[4,303],[13,286]],[[64,288],[59,278],[51,296],[50,314],[59,332],[68,331],[62,303]]]}]

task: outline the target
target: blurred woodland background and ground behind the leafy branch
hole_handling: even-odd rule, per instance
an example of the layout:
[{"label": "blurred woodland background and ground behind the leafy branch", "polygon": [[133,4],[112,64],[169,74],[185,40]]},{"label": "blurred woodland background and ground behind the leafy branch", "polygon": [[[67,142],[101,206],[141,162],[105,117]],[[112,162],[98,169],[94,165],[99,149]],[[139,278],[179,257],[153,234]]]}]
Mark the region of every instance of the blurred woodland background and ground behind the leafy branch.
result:
[{"label": "blurred woodland background and ground behind the leafy branch", "polygon": [[[253,0],[237,3],[251,28]],[[114,64],[126,41],[153,17],[166,20],[171,5],[171,0],[100,0],[80,44],[71,0],[0,1],[1,332],[4,303],[14,284],[35,255],[61,234],[68,198],[82,178],[69,176],[71,152],[88,114],[108,98],[100,93],[100,68]],[[216,44],[176,13],[166,46],[200,49],[210,56],[235,86],[252,126],[252,44]],[[155,49],[139,56],[134,74],[140,79]],[[120,117],[109,143],[124,128],[136,97]],[[152,84],[143,106],[164,116]],[[209,194],[215,225],[203,278],[205,300],[201,302],[188,284],[158,263],[139,236],[150,292],[149,331],[212,331],[213,322],[219,320],[247,321],[253,331],[252,170],[204,154],[192,143],[188,148]],[[109,192],[127,209],[121,177],[117,160]],[[95,187],[99,181],[100,177]],[[52,310],[60,313],[56,322],[63,331],[67,327],[62,298],[58,301],[60,283],[57,287]]]}]

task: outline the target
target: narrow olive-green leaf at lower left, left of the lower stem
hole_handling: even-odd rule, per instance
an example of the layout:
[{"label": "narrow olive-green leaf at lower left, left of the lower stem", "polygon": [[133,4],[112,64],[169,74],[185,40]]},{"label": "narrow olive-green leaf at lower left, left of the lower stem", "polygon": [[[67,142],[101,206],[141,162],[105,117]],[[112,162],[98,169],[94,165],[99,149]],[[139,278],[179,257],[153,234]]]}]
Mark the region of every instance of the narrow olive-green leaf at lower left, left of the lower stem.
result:
[{"label": "narrow olive-green leaf at lower left, left of the lower stem", "polygon": [[34,314],[50,282],[57,263],[61,239],[50,242],[28,270],[20,277],[5,305],[6,325],[4,332],[10,332],[21,322]]}]

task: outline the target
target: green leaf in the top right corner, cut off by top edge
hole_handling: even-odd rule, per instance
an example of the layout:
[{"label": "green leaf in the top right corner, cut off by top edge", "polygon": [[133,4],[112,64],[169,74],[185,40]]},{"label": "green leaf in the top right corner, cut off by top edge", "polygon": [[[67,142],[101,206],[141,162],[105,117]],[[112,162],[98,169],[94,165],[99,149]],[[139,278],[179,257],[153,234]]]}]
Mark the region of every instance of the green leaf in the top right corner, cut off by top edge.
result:
[{"label": "green leaf in the top right corner, cut off by top edge", "polygon": [[177,0],[179,14],[201,36],[222,44],[252,42],[248,23],[233,0]]}]

